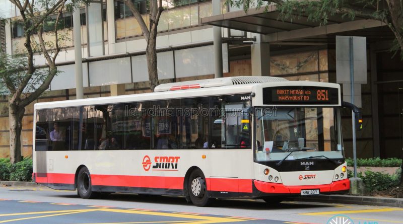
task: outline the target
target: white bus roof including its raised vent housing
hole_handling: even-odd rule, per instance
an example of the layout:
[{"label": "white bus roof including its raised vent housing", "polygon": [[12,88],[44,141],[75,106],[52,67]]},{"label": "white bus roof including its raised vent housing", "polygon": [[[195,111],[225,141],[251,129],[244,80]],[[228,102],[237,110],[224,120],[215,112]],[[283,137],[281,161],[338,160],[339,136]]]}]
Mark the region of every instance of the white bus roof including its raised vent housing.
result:
[{"label": "white bus roof including its raised vent housing", "polygon": [[[215,81],[216,80],[216,81]],[[199,87],[190,87],[190,85],[199,85]],[[50,109],[63,107],[77,107],[97,104],[114,104],[137,101],[156,101],[163,99],[180,99],[203,96],[231,95],[251,93],[257,86],[325,86],[340,89],[339,84],[307,82],[307,81],[288,81],[279,77],[229,77],[211,80],[186,81],[178,83],[161,84],[156,87],[155,93],[130,94],[111,97],[97,97],[78,100],[64,100],[36,103],[34,109]],[[180,88],[176,88],[179,86]],[[183,87],[184,86],[184,87]],[[188,88],[186,88],[188,86]],[[223,88],[225,86],[225,88]],[[172,91],[175,87],[178,91]],[[339,90],[340,92],[340,90]]]}]

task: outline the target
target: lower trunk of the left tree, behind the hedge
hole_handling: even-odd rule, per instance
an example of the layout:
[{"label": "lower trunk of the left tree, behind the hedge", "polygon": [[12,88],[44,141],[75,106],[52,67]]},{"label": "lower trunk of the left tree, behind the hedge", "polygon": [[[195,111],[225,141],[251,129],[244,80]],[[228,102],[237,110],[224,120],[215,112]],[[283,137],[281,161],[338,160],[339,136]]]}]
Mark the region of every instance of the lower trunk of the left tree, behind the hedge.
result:
[{"label": "lower trunk of the left tree, behind the hedge", "polygon": [[10,160],[12,163],[21,161],[21,131],[24,113],[24,107],[20,108],[14,104],[9,104]]}]

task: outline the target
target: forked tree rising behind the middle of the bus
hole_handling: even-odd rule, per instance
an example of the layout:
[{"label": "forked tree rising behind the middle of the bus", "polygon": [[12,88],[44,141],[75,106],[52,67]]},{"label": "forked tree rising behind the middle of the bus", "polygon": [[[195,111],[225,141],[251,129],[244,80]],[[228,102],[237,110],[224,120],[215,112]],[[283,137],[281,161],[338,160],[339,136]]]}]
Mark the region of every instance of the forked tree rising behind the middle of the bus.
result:
[{"label": "forked tree rising behind the middle of the bus", "polygon": [[164,8],[162,7],[162,0],[149,0],[149,16],[150,26],[147,27],[146,22],[141,16],[139,10],[135,7],[131,0],[123,0],[131,13],[135,16],[140,28],[143,32],[143,36],[147,41],[146,58],[148,77],[150,80],[150,89],[154,92],[154,88],[159,85],[158,70],[157,70],[157,27],[158,22]]}]

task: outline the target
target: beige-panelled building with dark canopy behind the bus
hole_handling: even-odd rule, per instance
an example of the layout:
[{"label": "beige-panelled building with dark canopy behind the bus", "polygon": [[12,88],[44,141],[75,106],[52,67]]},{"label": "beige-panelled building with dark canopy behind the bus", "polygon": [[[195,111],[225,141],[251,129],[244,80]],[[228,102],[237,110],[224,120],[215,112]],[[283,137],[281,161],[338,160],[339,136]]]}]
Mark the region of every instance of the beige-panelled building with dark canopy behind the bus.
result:
[{"label": "beige-panelled building with dark canopy behind the bus", "polygon": [[[7,53],[21,49],[23,29],[18,11],[8,3],[13,24],[0,27],[0,40]],[[135,1],[147,18],[146,1]],[[277,76],[289,80],[336,82],[335,36],[367,37],[367,84],[361,86],[364,128],[357,133],[359,158],[400,157],[403,148],[403,71],[400,59],[389,52],[393,34],[373,20],[341,16],[329,18],[326,26],[306,17],[278,20],[271,7],[242,10],[224,1],[173,1],[158,26],[158,68],[161,83],[214,78],[213,26],[222,31],[223,71],[229,76]],[[213,16],[213,4],[221,14]],[[148,92],[145,63],[146,42],[139,24],[123,1],[104,0],[81,9],[83,83],[85,97]],[[50,17],[49,24],[55,18]],[[72,14],[63,14],[60,30],[73,39]],[[47,27],[44,26],[46,32]],[[74,42],[64,43],[66,51],[57,57],[58,69],[49,91],[36,102],[75,99]],[[45,60],[36,55],[35,63]],[[346,156],[352,157],[350,111],[343,111]],[[32,154],[33,104],[24,117],[22,154]],[[0,101],[0,157],[9,156],[7,97]]]}]

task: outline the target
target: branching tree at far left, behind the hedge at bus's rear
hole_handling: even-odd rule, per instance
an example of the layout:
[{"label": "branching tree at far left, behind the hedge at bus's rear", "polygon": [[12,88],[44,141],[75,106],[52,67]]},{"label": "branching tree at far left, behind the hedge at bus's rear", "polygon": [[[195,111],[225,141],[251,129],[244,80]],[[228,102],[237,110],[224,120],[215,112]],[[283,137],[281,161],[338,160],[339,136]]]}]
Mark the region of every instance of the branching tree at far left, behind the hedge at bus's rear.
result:
[{"label": "branching tree at far left, behind the hedge at bus's rear", "polygon": [[[58,73],[55,60],[61,41],[67,38],[57,30],[63,10],[72,10],[84,0],[9,0],[21,14],[24,28],[24,50],[13,56],[2,54],[0,83],[9,94],[10,157],[12,163],[21,161],[21,130],[25,107],[37,99]],[[11,21],[16,23],[16,21]],[[51,33],[44,34],[44,27]],[[36,34],[34,34],[36,33]],[[51,41],[45,41],[47,35]],[[36,39],[37,37],[37,39]],[[34,64],[34,54],[42,55],[46,68]]]}]

